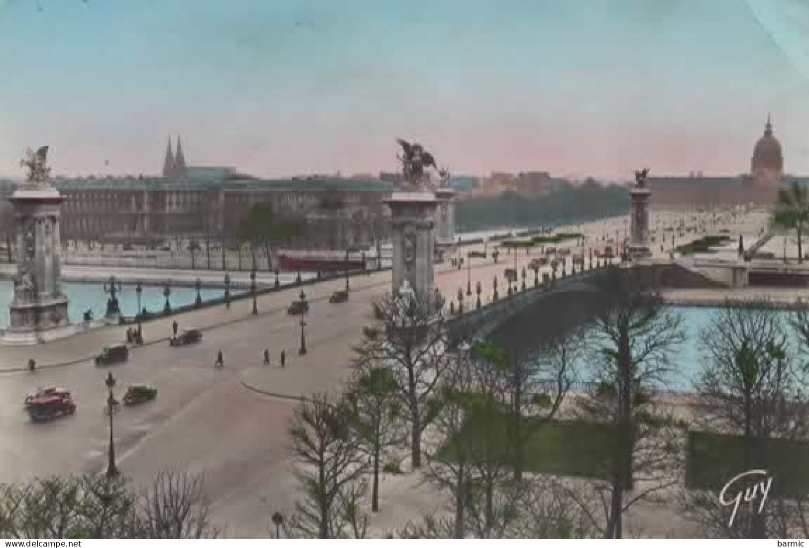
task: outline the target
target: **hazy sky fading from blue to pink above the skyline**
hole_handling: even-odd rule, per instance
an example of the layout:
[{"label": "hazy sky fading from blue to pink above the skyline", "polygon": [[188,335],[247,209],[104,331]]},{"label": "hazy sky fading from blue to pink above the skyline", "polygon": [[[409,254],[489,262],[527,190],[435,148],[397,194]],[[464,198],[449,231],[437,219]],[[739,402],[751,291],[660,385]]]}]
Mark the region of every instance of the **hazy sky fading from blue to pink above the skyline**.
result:
[{"label": "hazy sky fading from blue to pink above the skyline", "polygon": [[809,174],[807,3],[0,0],[0,174],[738,174],[768,112]]}]

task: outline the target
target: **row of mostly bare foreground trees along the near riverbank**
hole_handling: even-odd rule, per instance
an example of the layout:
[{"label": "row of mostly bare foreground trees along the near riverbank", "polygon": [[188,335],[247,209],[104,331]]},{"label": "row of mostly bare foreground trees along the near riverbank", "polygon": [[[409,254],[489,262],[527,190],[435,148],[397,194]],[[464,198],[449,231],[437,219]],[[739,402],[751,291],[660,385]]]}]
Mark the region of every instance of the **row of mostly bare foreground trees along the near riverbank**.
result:
[{"label": "row of mostly bare foreground trees along the near riverbank", "polygon": [[[642,533],[625,524],[639,503],[676,509],[707,536],[809,533],[801,496],[771,493],[765,512],[745,506],[729,526],[732,508],[717,492],[682,487],[689,429],[732,436],[745,448],[741,461],[717,455],[731,459],[727,478],[795,466],[762,448],[807,441],[807,379],[785,334],[794,330],[809,348],[809,308],[788,318],[765,302],[728,302],[701,331],[699,407],[684,413],[656,393],[676,373],[682,317],[640,272],[612,270],[599,284],[586,327],[512,333],[507,348],[464,344],[426,303],[385,297],[349,385],[295,412],[290,436],[302,498],[287,534],[366,536],[365,510],[379,509],[380,464],[405,447],[411,468],[447,496],[449,512],[392,533],[400,537],[620,538]],[[580,369],[596,381],[569,394]],[[533,452],[553,450],[532,443],[536,432],[571,420],[610,432],[596,459],[602,479],[554,478],[529,465]]]}]

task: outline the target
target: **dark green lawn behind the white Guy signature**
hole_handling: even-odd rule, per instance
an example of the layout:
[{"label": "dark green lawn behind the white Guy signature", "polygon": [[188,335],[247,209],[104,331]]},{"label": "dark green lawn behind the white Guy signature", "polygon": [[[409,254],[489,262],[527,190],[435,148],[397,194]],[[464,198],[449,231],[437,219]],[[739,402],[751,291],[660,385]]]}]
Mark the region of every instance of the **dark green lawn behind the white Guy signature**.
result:
[{"label": "dark green lawn behind the white Guy signature", "polygon": [[744,462],[743,440],[709,432],[688,432],[685,484],[689,489],[720,491],[746,470],[773,474],[773,491],[781,495],[809,494],[809,444],[767,440],[754,448],[752,464]]}]

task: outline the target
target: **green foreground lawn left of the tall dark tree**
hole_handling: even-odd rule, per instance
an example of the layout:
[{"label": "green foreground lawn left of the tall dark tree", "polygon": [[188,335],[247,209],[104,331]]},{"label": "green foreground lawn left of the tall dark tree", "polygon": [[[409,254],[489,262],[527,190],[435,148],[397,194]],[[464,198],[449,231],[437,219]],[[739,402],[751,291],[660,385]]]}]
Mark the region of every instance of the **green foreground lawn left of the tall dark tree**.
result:
[{"label": "green foreground lawn left of the tall dark tree", "polygon": [[[529,433],[525,437],[525,471],[608,478],[610,428],[583,422],[541,424],[532,419],[527,419],[526,425]],[[463,447],[472,460],[483,460],[489,455],[508,462],[509,437],[505,415],[489,420],[472,418],[437,457],[452,459],[453,453]]]}]

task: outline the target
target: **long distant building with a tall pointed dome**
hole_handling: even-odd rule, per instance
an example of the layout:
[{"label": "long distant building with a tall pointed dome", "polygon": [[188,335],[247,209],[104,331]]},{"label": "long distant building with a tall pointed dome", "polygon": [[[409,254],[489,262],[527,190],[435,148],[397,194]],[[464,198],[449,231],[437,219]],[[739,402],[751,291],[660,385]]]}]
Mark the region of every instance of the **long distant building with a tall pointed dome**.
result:
[{"label": "long distant building with a tall pointed dome", "polygon": [[692,207],[717,204],[772,204],[777,189],[786,183],[809,185],[809,177],[784,174],[781,143],[773,135],[773,123],[767,116],[764,135],[753,147],[748,175],[704,177],[650,177],[653,207]]}]

